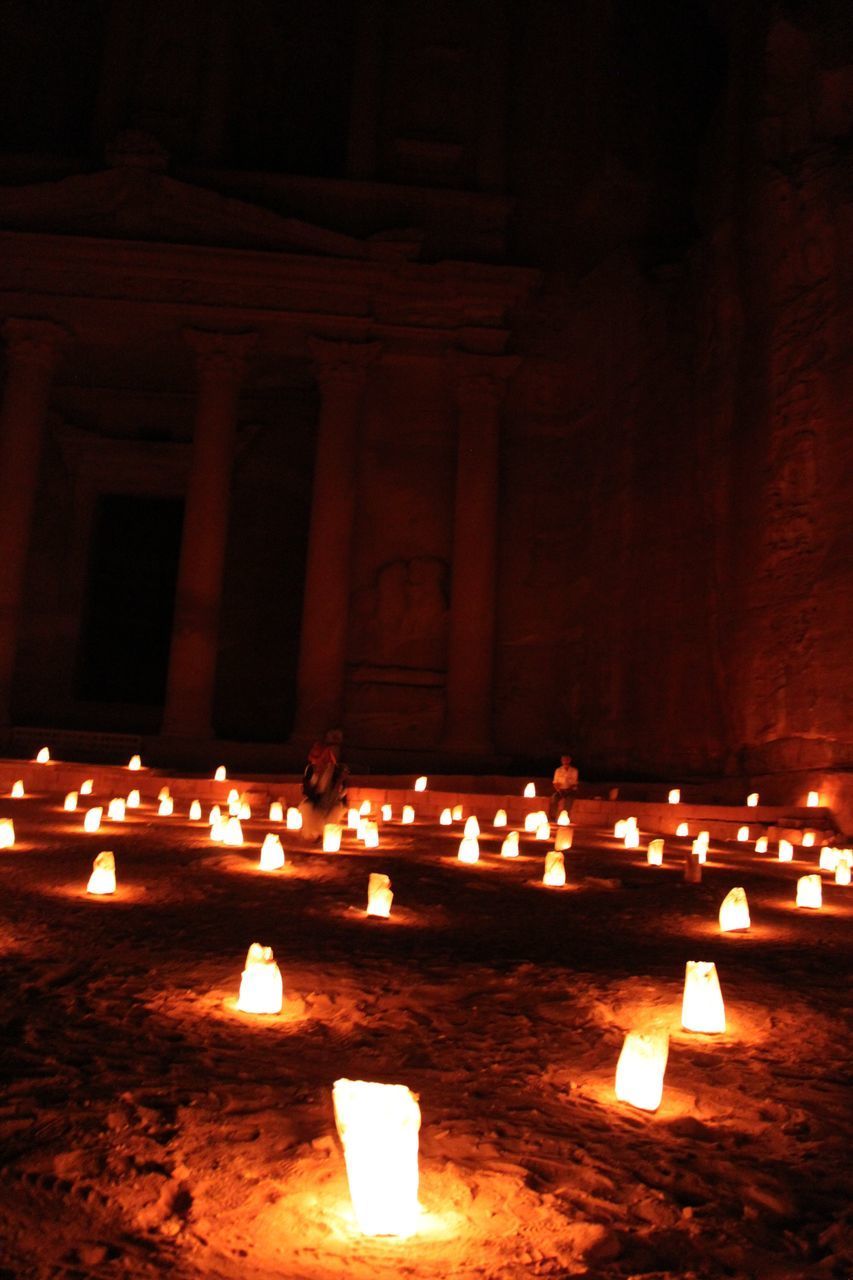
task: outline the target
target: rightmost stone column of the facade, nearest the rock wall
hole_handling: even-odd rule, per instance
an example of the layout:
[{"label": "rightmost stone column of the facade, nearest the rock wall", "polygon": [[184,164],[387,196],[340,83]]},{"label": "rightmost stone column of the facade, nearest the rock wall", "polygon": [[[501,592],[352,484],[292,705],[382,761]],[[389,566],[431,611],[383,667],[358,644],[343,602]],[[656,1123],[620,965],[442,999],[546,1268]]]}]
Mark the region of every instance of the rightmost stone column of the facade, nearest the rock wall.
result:
[{"label": "rightmost stone column of the facade, nearest the rock wall", "polygon": [[459,436],[443,745],[460,751],[493,749],[501,410],[517,365],[507,356],[452,357]]}]

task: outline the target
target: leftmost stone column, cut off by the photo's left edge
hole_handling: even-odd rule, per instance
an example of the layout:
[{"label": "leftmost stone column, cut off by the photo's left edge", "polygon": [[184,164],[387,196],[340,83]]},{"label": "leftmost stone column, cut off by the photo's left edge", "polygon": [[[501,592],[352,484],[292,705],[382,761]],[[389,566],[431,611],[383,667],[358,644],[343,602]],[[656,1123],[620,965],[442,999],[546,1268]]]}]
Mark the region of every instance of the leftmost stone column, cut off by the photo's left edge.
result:
[{"label": "leftmost stone column, cut off by the photo's left edge", "polygon": [[0,723],[8,724],[50,381],[67,334],[51,320],[10,319],[3,337],[8,349],[0,408]]}]

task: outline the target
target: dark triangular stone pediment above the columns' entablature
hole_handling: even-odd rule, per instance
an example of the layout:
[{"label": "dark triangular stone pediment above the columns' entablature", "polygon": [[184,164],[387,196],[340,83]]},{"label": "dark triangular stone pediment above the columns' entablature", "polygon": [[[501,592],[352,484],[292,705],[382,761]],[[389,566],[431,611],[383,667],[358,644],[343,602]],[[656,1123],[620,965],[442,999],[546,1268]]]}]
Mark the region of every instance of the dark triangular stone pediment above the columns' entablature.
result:
[{"label": "dark triangular stone pediment above the columns' entablature", "polygon": [[0,227],[356,260],[418,252],[406,238],[357,239],[132,165],[0,187]]}]

